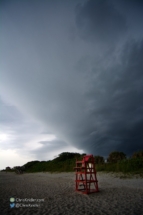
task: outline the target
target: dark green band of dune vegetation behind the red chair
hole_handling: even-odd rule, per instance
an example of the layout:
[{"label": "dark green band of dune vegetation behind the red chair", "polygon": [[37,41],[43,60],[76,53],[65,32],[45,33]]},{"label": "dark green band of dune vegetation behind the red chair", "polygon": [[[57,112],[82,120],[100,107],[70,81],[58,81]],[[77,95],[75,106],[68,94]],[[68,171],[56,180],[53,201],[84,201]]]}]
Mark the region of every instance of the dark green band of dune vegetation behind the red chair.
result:
[{"label": "dark green band of dune vegetation behind the red chair", "polygon": [[[63,152],[53,160],[48,161],[30,161],[21,167],[7,169],[15,171],[22,169],[23,172],[73,172],[75,162],[82,160],[85,154]],[[143,151],[135,152],[127,158],[123,152],[111,152],[105,160],[102,156],[94,156],[96,170],[104,172],[122,172],[140,174],[143,176]],[[6,171],[6,170],[3,170]]]}]

